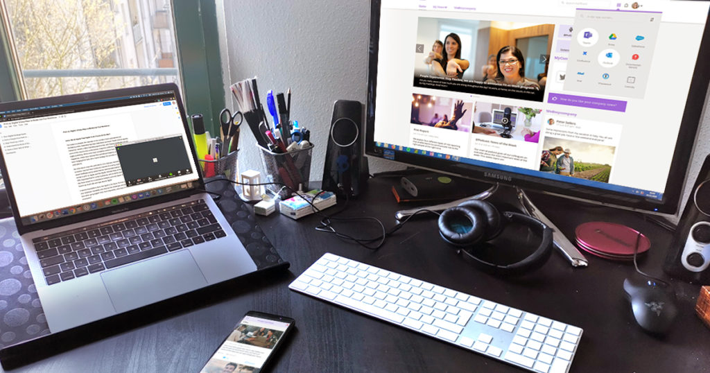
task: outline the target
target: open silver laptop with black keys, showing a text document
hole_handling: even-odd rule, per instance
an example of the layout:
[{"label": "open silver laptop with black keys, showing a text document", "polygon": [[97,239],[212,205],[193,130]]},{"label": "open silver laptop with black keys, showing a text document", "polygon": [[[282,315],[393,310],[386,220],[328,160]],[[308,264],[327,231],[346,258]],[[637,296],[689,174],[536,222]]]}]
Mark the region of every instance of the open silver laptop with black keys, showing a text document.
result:
[{"label": "open silver laptop with black keys, showing a text document", "polygon": [[0,168],[50,332],[256,271],[178,87],[0,103]]}]

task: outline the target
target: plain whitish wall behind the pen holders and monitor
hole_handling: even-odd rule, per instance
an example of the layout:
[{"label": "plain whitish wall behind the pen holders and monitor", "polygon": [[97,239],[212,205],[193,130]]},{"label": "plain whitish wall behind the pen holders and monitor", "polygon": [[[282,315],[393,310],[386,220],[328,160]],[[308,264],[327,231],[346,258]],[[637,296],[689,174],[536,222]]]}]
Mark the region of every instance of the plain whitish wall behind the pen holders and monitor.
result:
[{"label": "plain whitish wall behind the pen holders and monitor", "polygon": [[[222,45],[229,58],[228,66],[226,58],[222,59],[225,80],[236,82],[258,76],[263,100],[267,90],[285,92],[291,87],[292,117],[312,129],[316,146],[311,180],[320,180],[333,102],[356,99],[365,103],[367,99],[370,2],[217,0],[218,9],[222,3],[226,28]],[[229,92],[225,90],[225,94]],[[228,102],[234,105],[231,94]],[[708,105],[706,97],[683,204],[710,153]],[[249,146],[255,142],[253,136],[249,131],[242,131],[241,136],[240,169],[263,171],[256,147]],[[373,173],[399,166],[370,158],[370,168]]]}]

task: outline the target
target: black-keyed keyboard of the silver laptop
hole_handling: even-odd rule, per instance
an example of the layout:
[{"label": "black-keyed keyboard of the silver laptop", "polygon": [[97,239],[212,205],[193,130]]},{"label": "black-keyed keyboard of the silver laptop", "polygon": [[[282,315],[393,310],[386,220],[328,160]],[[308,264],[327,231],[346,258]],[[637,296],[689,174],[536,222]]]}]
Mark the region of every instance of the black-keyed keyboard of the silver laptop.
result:
[{"label": "black-keyed keyboard of the silver laptop", "polygon": [[226,237],[204,200],[32,240],[47,285]]}]

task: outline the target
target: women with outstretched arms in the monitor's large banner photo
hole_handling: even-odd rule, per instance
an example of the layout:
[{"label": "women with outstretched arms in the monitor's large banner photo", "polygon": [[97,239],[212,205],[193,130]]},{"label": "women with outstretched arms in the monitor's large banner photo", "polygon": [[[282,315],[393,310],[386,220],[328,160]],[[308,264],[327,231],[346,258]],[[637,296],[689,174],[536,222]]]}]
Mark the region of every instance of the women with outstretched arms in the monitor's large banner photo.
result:
[{"label": "women with outstretched arms in the monitor's large banner photo", "polygon": [[[436,40],[432,51],[424,59],[433,75],[461,79],[469,68],[469,61],[461,58],[461,38],[449,33],[444,42]],[[488,64],[481,67],[483,81],[504,85],[532,87],[540,90],[539,81],[525,77],[525,56],[514,45],[506,45],[497,55],[488,56]]]}]

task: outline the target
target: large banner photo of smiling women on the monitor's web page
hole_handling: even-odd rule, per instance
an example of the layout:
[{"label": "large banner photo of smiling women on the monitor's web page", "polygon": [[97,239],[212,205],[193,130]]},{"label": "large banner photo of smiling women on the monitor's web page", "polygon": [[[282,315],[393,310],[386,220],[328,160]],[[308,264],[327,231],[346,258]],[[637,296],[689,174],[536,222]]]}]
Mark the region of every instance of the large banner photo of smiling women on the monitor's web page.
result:
[{"label": "large banner photo of smiling women on the monitor's web page", "polygon": [[419,18],[414,86],[542,102],[555,25]]}]

